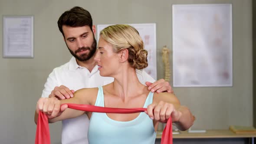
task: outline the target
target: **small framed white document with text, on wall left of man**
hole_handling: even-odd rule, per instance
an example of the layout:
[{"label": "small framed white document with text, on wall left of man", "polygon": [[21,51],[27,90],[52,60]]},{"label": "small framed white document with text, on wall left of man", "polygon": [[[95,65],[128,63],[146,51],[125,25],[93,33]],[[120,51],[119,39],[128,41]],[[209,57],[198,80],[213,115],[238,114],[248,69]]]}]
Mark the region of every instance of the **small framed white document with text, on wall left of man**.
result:
[{"label": "small framed white document with text, on wall left of man", "polygon": [[33,58],[33,16],[3,16],[3,57]]}]

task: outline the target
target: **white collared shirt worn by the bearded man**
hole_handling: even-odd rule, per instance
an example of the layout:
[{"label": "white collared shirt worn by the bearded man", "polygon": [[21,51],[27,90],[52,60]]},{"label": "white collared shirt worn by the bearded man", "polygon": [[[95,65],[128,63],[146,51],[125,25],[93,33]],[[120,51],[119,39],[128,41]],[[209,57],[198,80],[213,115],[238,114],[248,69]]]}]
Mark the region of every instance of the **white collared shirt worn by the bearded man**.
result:
[{"label": "white collared shirt worn by the bearded man", "polygon": [[[137,70],[139,81],[145,85],[145,82],[154,82],[155,80],[144,70]],[[88,69],[77,64],[75,57],[69,62],[61,65],[49,74],[44,85],[42,97],[48,98],[56,86],[65,85],[70,90],[81,88],[95,88],[107,85],[114,81],[112,77],[102,77],[99,75],[98,65],[89,72]],[[62,144],[88,144],[87,133],[89,127],[89,118],[87,115],[81,115],[77,118],[66,119],[62,121]]]}]

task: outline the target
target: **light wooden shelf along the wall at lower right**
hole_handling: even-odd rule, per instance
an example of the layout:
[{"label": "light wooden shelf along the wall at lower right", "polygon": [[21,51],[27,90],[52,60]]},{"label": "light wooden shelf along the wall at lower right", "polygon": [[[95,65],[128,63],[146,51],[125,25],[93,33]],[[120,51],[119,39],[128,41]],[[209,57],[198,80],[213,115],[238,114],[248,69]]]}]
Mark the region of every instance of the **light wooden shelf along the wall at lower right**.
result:
[{"label": "light wooden shelf along the wall at lower right", "polygon": [[[161,138],[161,131],[157,132],[156,138]],[[180,131],[180,134],[173,134],[173,138],[241,138],[256,137],[256,134],[235,134],[230,130],[207,130],[205,133],[188,133]]]}]

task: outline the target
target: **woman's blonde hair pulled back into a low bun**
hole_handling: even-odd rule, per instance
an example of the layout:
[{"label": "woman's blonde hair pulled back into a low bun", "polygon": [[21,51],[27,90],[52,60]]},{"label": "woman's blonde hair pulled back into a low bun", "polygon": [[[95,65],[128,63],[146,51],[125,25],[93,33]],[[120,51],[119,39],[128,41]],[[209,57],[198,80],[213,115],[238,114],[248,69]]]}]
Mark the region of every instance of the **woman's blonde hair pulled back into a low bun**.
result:
[{"label": "woman's blonde hair pulled back into a low bun", "polygon": [[148,66],[148,52],[138,31],[129,25],[118,24],[108,26],[100,32],[106,42],[112,44],[114,52],[128,49],[128,62],[135,69],[144,69]]}]

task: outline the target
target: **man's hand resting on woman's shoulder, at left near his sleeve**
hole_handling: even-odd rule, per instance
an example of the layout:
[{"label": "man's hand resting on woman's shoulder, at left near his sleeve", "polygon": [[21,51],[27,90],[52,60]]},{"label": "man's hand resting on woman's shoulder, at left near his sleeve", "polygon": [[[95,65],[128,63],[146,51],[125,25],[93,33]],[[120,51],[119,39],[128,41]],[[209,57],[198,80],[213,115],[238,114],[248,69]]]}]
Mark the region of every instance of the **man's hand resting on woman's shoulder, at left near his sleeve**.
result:
[{"label": "man's hand resting on woman's shoulder, at left near his sleeve", "polygon": [[49,95],[49,98],[52,98],[52,97],[56,97],[59,99],[72,98],[74,96],[73,95],[74,93],[75,93],[74,90],[69,90],[69,88],[67,88],[66,86],[61,85],[61,86],[56,86],[54,88],[54,90]]}]

